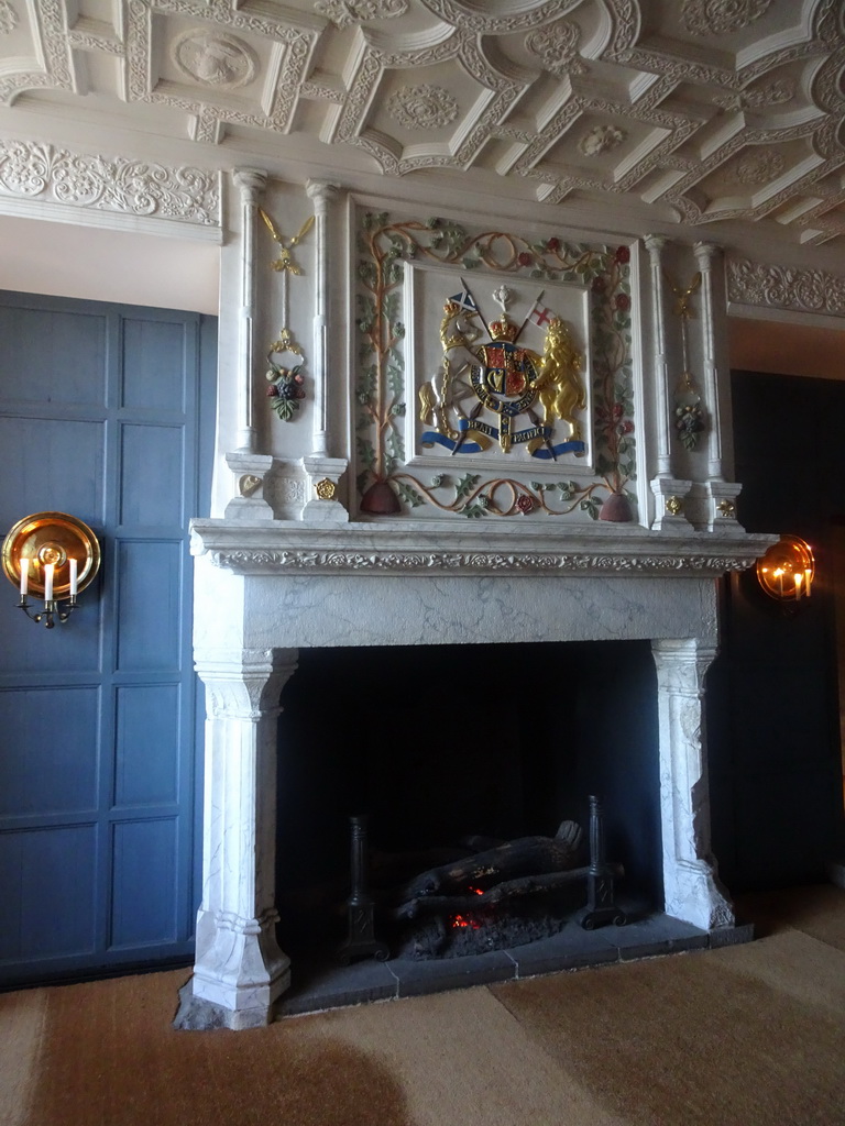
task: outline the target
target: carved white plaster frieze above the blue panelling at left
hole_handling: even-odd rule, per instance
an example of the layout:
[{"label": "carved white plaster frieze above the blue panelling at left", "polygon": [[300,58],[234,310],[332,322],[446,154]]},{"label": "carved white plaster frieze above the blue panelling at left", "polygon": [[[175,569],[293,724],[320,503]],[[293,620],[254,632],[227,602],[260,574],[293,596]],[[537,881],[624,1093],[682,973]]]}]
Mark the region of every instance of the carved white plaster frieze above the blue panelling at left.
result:
[{"label": "carved white plaster frieze above the blue panelling at left", "polygon": [[0,195],[220,227],[220,173],[0,140]]}]

